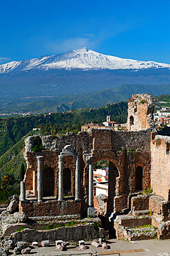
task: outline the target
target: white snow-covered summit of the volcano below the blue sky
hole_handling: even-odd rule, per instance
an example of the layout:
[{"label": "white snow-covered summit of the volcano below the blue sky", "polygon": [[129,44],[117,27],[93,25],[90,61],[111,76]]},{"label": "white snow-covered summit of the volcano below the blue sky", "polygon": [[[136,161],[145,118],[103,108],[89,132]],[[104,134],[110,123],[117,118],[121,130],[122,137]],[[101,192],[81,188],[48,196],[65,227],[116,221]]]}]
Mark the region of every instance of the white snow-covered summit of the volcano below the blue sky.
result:
[{"label": "white snow-covered summit of the volcano below the blue sky", "polygon": [[18,71],[50,71],[55,69],[81,69],[87,70],[118,70],[118,69],[149,69],[149,68],[170,68],[170,64],[158,62],[142,62],[138,60],[123,59],[111,55],[96,53],[95,51],[83,48],[59,55],[45,56],[21,62],[9,62],[0,65],[0,73]]}]

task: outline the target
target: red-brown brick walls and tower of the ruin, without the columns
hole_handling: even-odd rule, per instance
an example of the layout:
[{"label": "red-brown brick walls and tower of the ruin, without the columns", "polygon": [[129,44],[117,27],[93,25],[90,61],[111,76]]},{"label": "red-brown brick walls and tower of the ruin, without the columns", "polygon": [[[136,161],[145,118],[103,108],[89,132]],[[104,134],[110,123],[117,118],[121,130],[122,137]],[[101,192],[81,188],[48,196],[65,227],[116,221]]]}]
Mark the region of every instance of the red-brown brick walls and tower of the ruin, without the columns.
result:
[{"label": "red-brown brick walls and tower of the ruin, without the columns", "polygon": [[[88,206],[88,163],[85,154],[92,154],[94,163],[100,160],[109,161],[109,196],[106,209],[103,212],[122,212],[129,210],[151,210],[153,214],[161,214],[168,219],[169,214],[169,177],[170,158],[167,154],[166,136],[156,135],[153,127],[153,97],[147,94],[133,95],[129,102],[127,123],[130,125],[130,116],[134,117],[134,125],[129,131],[112,131],[105,129],[90,129],[87,132],[79,132],[77,135],[69,133],[65,136],[31,136],[25,140],[24,157],[28,167],[25,173],[25,189],[28,203],[21,203],[23,212],[31,212],[34,216],[47,214],[50,206],[46,201],[39,205],[33,203],[36,199],[37,163],[36,156],[43,156],[43,172],[47,168],[54,170],[54,197],[58,196],[59,159],[65,145],[71,145],[80,156],[80,190],[81,204],[75,204],[75,156],[64,156],[63,168],[69,168],[71,172],[72,203],[67,207],[64,201],[63,214],[71,211],[81,216],[87,214]],[[33,153],[32,147],[39,140],[45,150]],[[158,143],[159,142],[159,143]],[[142,190],[153,189],[162,199],[158,201],[154,197],[135,196],[129,205],[129,195],[136,192],[136,169],[142,168]],[[165,203],[160,203],[165,200]],[[69,203],[68,203],[69,204]],[[30,206],[29,206],[30,205]],[[61,214],[58,201],[52,203],[50,214]],[[67,210],[69,209],[70,210]],[[75,209],[74,209],[75,208]],[[29,209],[29,210],[28,210]],[[74,212],[75,211],[75,212]],[[41,213],[43,212],[43,213]],[[29,213],[28,213],[29,214]]]}]

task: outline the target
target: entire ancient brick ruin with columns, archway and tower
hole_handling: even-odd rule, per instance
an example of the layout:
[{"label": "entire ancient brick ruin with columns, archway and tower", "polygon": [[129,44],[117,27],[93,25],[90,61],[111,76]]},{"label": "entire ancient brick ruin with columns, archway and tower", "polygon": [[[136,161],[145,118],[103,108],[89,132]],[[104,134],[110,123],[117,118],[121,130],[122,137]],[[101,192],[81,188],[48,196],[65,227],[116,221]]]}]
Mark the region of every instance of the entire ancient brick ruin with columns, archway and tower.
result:
[{"label": "entire ancient brick ruin with columns, archway and tower", "polygon": [[[135,231],[145,225],[156,228],[148,231],[153,237],[169,238],[170,137],[156,132],[153,111],[153,96],[134,94],[128,104],[128,131],[89,129],[77,135],[28,137],[19,211],[34,218],[80,218],[97,211],[106,223],[112,220],[109,228],[117,238],[147,239]],[[100,160],[109,161],[104,208],[93,196],[93,163]]]}]

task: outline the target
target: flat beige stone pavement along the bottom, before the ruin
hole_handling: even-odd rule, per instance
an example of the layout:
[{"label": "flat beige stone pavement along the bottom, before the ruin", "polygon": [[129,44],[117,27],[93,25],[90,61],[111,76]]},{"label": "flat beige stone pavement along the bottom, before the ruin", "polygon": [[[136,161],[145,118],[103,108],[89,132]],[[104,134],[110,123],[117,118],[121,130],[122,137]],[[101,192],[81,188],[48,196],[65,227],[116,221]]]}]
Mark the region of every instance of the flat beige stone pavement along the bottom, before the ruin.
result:
[{"label": "flat beige stone pavement along the bottom, before the ruin", "polygon": [[[134,243],[134,241],[133,241]],[[56,246],[52,244],[50,247],[39,247],[34,248],[31,251],[33,256],[50,256],[50,255],[78,255],[83,253],[83,256],[93,253],[94,255],[113,255],[113,253],[120,252],[122,256],[156,256],[158,253],[168,253],[170,252],[170,239],[167,240],[142,240],[136,241],[136,244],[132,244],[129,241],[121,241],[117,239],[109,239],[108,245],[109,250],[103,250],[102,247],[95,248],[91,246],[91,242],[87,241],[85,243],[89,246],[86,251],[79,250],[74,246],[67,246],[67,250],[59,252],[56,250]],[[139,250],[140,249],[140,250]],[[143,250],[143,251],[141,251]],[[134,251],[132,253],[132,251]],[[12,252],[12,251],[11,251]],[[96,252],[96,253],[95,253]],[[117,256],[117,255],[116,255]]]}]

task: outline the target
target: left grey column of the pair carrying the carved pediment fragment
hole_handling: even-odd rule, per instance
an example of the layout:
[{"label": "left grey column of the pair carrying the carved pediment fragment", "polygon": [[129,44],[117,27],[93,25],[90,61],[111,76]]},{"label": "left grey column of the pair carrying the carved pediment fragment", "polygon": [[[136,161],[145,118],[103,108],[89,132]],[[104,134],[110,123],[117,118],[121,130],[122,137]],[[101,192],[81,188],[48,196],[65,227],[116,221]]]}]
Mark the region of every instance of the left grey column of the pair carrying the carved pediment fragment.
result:
[{"label": "left grey column of the pair carrying the carved pediment fragment", "polygon": [[63,156],[59,156],[59,198],[58,201],[63,201]]}]

